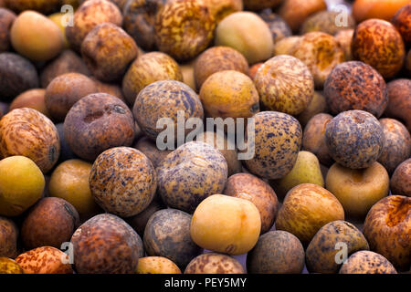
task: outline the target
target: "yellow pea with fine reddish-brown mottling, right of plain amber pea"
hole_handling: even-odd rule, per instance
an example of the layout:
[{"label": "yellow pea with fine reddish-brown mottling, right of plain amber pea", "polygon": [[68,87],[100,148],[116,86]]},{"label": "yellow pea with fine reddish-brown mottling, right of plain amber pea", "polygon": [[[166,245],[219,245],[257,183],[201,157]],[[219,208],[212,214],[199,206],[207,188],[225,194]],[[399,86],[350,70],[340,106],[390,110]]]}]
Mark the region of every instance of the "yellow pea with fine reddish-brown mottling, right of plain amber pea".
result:
[{"label": "yellow pea with fine reddish-brown mottling, right of plain amber pea", "polygon": [[314,78],[296,57],[270,58],[258,69],[254,82],[267,110],[298,115],[314,96]]}]

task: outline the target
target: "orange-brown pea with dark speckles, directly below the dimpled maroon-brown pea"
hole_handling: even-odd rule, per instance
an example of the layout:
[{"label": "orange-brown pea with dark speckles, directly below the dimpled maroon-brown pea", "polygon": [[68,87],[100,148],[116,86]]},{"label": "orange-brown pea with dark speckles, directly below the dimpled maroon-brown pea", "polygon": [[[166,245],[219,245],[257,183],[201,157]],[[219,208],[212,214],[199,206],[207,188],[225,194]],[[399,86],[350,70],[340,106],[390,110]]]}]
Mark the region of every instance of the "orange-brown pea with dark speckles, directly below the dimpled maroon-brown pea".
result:
[{"label": "orange-brown pea with dark speckles, directly below the dimpled maroon-brown pea", "polygon": [[152,162],[141,151],[116,147],[99,155],[91,167],[89,183],[101,208],[131,217],[152,203],[157,176]]}]

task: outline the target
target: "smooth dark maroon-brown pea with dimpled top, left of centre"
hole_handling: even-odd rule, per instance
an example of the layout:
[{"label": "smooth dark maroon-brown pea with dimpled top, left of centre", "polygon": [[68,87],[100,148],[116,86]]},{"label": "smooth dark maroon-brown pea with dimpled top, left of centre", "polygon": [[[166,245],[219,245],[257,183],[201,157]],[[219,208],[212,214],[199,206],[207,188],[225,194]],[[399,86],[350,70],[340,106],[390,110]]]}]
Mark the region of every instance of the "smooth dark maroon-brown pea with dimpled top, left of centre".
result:
[{"label": "smooth dark maroon-brown pea with dimpled top, left of centre", "polygon": [[64,120],[69,148],[90,162],[110,148],[131,146],[134,136],[132,111],[121,99],[107,93],[79,99]]}]

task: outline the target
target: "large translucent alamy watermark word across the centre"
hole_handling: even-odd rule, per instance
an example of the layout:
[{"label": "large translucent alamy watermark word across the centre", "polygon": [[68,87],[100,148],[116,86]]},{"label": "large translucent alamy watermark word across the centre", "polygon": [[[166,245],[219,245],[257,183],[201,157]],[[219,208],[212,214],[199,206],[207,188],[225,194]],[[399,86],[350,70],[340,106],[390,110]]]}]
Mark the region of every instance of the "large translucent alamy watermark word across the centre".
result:
[{"label": "large translucent alamy watermark word across the centre", "polygon": [[[164,129],[165,128],[165,129]],[[156,140],[157,148],[174,150],[175,142],[179,147],[184,143],[196,141],[203,132],[214,132],[217,137],[227,135],[225,139],[216,139],[206,135],[206,143],[215,145],[217,150],[237,150],[238,160],[250,160],[255,153],[255,120],[253,118],[189,118],[185,120],[184,110],[177,111],[177,120],[161,118],[157,120],[156,129],[161,131]],[[190,130],[187,132],[187,130]]]}]

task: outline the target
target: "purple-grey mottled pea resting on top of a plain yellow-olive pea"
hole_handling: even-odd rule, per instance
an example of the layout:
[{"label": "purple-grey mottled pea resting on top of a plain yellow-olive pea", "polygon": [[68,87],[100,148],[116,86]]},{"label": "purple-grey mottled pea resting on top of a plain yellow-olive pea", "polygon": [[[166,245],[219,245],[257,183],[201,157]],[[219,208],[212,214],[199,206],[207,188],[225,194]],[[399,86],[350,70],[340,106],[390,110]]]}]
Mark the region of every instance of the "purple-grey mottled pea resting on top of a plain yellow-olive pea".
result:
[{"label": "purple-grey mottled pea resting on top of a plain yellow-olive pea", "polygon": [[325,142],[332,159],[351,169],[370,167],[384,149],[381,124],[364,110],[343,111],[325,130]]}]

